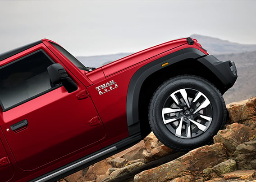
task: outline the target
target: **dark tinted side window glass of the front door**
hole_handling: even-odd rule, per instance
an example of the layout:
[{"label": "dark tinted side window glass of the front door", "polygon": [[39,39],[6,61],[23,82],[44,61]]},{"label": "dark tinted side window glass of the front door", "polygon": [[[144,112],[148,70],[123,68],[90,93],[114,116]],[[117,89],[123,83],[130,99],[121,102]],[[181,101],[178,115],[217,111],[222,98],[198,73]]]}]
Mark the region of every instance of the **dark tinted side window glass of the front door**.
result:
[{"label": "dark tinted side window glass of the front door", "polygon": [[0,104],[3,111],[52,90],[47,67],[53,63],[40,49],[0,67]]}]

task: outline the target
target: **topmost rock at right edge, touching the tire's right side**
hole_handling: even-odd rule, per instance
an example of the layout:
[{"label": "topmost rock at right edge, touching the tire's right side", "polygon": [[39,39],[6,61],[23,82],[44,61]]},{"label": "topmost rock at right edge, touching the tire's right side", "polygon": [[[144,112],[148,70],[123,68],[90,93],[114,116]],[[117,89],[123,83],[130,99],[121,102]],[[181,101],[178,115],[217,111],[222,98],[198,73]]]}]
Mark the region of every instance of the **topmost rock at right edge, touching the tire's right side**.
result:
[{"label": "topmost rock at right edge, touching the tire's right side", "polygon": [[227,123],[237,122],[256,128],[256,96],[227,104],[226,107],[229,113]]}]

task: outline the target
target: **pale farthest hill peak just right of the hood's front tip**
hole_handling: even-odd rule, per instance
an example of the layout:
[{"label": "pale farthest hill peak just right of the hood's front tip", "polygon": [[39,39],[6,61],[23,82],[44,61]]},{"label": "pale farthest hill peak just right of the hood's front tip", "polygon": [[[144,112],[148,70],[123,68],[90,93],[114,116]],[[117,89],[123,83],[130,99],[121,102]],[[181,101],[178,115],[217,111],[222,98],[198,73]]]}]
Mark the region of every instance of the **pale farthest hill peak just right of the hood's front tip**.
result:
[{"label": "pale farthest hill peak just right of the hood's front tip", "polygon": [[228,40],[221,40],[204,35],[191,35],[193,39],[197,41],[205,48],[210,54],[229,54],[229,53],[241,53],[248,51],[255,51],[256,44],[240,44],[232,43]]}]

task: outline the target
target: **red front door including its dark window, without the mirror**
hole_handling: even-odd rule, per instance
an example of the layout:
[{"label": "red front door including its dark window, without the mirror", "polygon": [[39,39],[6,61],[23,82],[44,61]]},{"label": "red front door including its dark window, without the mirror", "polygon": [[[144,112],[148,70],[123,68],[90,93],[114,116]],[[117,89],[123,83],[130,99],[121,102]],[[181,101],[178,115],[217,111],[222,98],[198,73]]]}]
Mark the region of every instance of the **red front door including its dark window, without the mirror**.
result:
[{"label": "red front door including its dark window, without the mirror", "polygon": [[[86,88],[53,86],[43,49],[0,67],[0,104],[5,137],[24,170],[32,170],[104,138],[105,128]],[[91,124],[92,123],[92,124]]]}]

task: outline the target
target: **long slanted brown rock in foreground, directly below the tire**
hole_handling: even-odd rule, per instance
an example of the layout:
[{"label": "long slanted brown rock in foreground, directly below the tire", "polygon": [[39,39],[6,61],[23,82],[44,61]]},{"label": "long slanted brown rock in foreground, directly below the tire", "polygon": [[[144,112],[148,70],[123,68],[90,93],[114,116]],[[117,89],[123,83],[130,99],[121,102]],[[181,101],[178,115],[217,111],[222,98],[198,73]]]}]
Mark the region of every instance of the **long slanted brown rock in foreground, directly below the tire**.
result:
[{"label": "long slanted brown rock in foreground, directly below the tire", "polygon": [[[226,160],[223,143],[215,143],[192,150],[173,161],[143,171],[134,177],[134,182],[168,182],[186,175],[198,176],[205,168],[211,168]],[[207,161],[207,162],[206,162]]]}]

